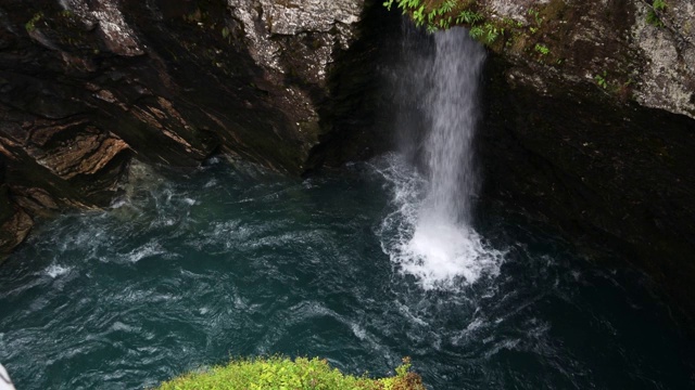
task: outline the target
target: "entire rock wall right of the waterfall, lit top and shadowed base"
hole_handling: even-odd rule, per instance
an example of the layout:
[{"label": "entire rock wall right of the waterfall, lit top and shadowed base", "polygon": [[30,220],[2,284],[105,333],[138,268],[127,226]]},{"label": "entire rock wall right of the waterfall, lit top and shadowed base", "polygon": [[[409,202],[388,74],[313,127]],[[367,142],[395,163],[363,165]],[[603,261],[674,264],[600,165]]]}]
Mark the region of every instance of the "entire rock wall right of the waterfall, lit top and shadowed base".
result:
[{"label": "entire rock wall right of the waterfall, lit top and shadowed base", "polygon": [[620,252],[695,326],[693,3],[485,3],[526,23],[491,48],[480,135],[488,197],[596,258]]}]

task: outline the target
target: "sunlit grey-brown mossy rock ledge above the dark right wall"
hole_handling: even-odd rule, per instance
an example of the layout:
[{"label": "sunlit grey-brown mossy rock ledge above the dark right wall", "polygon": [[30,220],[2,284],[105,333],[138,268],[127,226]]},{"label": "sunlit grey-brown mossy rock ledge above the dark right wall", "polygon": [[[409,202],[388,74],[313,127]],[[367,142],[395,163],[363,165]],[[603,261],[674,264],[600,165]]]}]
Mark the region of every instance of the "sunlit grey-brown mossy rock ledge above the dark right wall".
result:
[{"label": "sunlit grey-brown mossy rock ledge above the dark right wall", "polygon": [[513,65],[510,82],[544,95],[594,84],[617,100],[695,118],[692,1],[667,0],[664,6],[642,0],[478,3],[491,21],[525,26],[492,46]]}]

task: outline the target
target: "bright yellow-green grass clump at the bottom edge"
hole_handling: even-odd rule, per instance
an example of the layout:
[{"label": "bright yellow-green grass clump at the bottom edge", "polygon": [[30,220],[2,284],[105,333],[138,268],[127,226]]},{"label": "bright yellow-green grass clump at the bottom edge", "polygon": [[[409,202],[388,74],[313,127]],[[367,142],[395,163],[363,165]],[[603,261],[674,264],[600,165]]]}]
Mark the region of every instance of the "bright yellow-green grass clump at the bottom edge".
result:
[{"label": "bright yellow-green grass clump at the bottom edge", "polygon": [[265,358],[231,361],[204,373],[190,373],[162,384],[157,390],[425,390],[409,359],[393,377],[371,379],[343,375],[318,358]]}]

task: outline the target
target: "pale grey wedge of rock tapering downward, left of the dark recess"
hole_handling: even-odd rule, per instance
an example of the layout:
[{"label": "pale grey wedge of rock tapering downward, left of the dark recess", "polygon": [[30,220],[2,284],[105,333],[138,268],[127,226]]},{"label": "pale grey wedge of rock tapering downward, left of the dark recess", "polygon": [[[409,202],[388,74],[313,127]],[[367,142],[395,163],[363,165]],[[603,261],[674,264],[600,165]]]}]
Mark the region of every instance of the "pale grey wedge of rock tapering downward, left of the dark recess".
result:
[{"label": "pale grey wedge of rock tapering downward, left of the dark recess", "polygon": [[[329,98],[329,74],[358,38],[365,0],[227,0],[239,37],[271,84],[282,86],[276,104],[292,113],[303,153],[327,132],[320,104]],[[334,98],[334,96],[331,96]],[[328,125],[330,127],[330,125]],[[302,165],[302,169],[309,169]]]}]

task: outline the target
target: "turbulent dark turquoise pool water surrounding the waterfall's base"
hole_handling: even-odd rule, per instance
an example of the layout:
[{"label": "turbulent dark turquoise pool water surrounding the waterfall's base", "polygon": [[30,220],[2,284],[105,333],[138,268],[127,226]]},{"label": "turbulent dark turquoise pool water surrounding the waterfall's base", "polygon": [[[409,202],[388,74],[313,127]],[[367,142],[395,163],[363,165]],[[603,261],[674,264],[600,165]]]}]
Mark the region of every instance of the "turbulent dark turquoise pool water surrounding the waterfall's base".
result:
[{"label": "turbulent dark turquoise pool water surrounding the waterfall's base", "polygon": [[485,208],[463,271],[404,261],[422,181],[397,156],[307,180],[212,162],[140,173],[0,266],[17,389],[141,389],[276,353],[372,375],[408,355],[431,389],[695,386],[692,338],[644,276],[514,210]]}]

